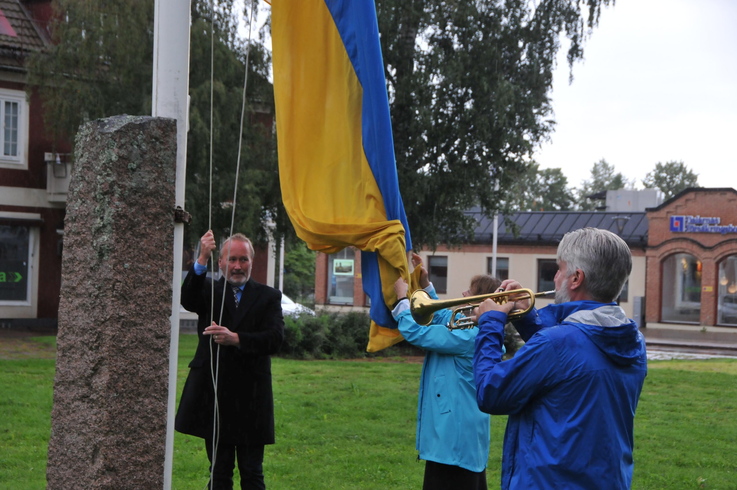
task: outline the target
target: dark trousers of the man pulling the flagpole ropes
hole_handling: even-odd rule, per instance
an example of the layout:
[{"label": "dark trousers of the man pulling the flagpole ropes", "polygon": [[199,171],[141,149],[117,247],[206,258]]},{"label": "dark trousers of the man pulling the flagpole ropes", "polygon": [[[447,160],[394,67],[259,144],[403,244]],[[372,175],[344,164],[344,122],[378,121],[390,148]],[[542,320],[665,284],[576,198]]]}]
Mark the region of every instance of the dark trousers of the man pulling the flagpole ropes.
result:
[{"label": "dark trousers of the man pulling the flagpole ropes", "polygon": [[[207,459],[212,467],[212,441],[205,440]],[[215,467],[212,472],[212,490],[233,490],[233,469],[236,457],[240,473],[241,490],[265,490],[264,483],[264,446],[217,444]],[[209,486],[208,486],[209,488]]]}]

